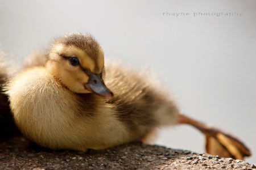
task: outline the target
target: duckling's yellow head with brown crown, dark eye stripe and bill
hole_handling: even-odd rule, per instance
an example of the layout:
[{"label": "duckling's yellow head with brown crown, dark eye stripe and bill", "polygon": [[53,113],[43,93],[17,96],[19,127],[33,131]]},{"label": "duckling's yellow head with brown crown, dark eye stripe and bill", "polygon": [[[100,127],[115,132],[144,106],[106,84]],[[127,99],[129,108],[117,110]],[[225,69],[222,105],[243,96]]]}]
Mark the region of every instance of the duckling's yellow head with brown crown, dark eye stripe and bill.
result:
[{"label": "duckling's yellow head with brown crown, dark eye stripe and bill", "polygon": [[49,49],[46,69],[73,92],[93,92],[106,99],[113,97],[102,79],[105,74],[103,50],[90,35],[72,33],[57,38]]}]

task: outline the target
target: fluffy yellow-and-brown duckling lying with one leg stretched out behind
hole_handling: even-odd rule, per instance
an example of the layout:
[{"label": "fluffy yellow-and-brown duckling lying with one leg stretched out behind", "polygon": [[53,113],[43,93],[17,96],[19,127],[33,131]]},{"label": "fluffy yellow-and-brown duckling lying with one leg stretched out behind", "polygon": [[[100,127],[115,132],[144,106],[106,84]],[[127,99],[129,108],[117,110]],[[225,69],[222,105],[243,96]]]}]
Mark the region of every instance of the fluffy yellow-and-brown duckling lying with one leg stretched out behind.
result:
[{"label": "fluffy yellow-and-brown duckling lying with one leg stretched out behind", "polygon": [[[58,37],[46,62],[25,67],[8,80],[5,90],[22,133],[53,150],[98,150],[145,141],[156,128],[177,124],[191,124],[219,141],[215,129],[181,114],[146,75],[116,64],[105,66],[100,44],[88,34]],[[238,143],[238,152],[245,150],[240,155],[250,155]]]}]

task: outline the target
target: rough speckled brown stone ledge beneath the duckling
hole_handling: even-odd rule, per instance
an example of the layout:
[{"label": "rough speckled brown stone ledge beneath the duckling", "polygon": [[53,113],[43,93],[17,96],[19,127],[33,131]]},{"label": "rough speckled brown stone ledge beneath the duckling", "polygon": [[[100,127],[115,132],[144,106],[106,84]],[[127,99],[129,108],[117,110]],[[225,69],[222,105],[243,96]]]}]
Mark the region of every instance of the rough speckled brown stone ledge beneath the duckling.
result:
[{"label": "rough speckled brown stone ledge beneath the duckling", "polygon": [[256,165],[142,143],[87,152],[52,151],[14,137],[0,141],[0,169],[256,169]]}]

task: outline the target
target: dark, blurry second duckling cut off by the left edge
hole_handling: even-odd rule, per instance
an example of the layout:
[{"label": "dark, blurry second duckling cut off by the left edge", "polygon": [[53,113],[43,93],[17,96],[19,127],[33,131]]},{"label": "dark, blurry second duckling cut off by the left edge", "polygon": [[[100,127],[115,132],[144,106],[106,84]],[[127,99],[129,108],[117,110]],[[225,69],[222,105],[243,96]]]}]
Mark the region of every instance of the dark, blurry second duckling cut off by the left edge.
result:
[{"label": "dark, blurry second duckling cut off by the left edge", "polygon": [[7,65],[0,53],[0,139],[20,134],[11,114],[8,96],[3,94],[3,84],[8,78]]}]

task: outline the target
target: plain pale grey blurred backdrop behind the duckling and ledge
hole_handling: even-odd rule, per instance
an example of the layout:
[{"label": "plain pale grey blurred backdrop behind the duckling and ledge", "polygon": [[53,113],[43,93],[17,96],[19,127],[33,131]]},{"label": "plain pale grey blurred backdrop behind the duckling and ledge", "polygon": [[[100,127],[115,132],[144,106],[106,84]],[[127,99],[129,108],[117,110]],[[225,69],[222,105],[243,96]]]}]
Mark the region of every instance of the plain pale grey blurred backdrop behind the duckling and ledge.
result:
[{"label": "plain pale grey blurred backdrop behind the duckling and ledge", "polygon": [[[242,139],[249,163],[256,163],[255,30],[256,1],[0,0],[1,48],[18,65],[58,35],[91,33],[106,58],[149,67],[182,112]],[[160,129],[154,143],[204,152],[203,135],[190,126]]]}]

